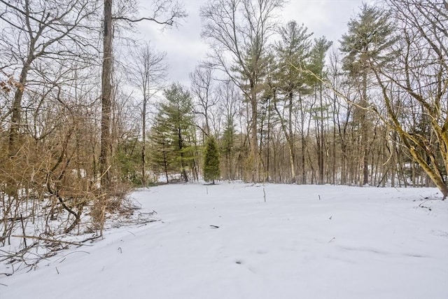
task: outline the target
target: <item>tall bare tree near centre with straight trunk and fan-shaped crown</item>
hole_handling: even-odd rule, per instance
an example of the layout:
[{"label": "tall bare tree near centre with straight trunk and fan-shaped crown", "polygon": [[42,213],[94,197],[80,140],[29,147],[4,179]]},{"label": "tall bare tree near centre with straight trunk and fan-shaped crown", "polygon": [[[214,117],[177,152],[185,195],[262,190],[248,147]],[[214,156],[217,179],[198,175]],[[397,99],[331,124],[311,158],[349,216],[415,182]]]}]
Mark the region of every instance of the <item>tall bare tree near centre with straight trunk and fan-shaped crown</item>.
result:
[{"label": "tall bare tree near centre with straight trunk and fan-shaped crown", "polygon": [[276,27],[275,12],[283,0],[210,0],[201,8],[202,36],[212,46],[211,60],[238,85],[251,108],[251,180],[260,179],[258,153],[258,92],[265,70],[269,36]]}]

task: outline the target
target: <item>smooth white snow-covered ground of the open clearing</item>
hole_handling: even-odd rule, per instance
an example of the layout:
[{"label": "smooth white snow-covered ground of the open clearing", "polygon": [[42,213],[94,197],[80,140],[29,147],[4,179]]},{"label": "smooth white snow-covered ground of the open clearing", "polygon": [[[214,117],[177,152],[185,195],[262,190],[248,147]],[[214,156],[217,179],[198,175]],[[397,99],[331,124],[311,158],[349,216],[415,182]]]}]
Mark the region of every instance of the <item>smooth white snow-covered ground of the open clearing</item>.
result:
[{"label": "smooth white snow-covered ground of the open clearing", "polygon": [[434,188],[197,183],[132,196],[160,221],[0,275],[0,298],[448,298],[448,202]]}]

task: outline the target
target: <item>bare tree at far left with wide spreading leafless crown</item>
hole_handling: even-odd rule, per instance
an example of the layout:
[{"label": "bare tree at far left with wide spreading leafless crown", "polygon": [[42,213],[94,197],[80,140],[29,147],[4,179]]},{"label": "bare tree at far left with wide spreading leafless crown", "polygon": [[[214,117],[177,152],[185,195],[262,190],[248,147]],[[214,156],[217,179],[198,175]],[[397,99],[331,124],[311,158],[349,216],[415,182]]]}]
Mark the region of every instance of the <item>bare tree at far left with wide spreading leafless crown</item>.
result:
[{"label": "bare tree at far left with wide spreading leafless crown", "polygon": [[[20,74],[12,103],[9,146],[11,156],[18,151],[18,134],[22,116],[22,98],[27,88],[29,74],[36,62],[43,60],[82,60],[92,43],[88,22],[94,17],[96,1],[29,1],[0,0],[0,19],[8,25],[1,31],[1,69]],[[87,30],[87,32],[86,32]],[[82,33],[84,32],[84,33]],[[90,55],[88,55],[90,56]]]}]

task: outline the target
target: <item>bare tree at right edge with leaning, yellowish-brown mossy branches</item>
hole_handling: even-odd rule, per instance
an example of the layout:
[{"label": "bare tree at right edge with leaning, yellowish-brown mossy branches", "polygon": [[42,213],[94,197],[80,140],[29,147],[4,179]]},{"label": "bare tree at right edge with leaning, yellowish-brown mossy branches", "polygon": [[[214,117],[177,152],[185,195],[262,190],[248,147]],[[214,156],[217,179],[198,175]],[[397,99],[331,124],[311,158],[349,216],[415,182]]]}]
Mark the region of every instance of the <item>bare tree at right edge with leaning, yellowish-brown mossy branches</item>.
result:
[{"label": "bare tree at right edge with leaning, yellowish-brown mossy branches", "polygon": [[[400,28],[393,50],[397,59],[387,66],[376,60],[389,125],[428,174],[448,196],[448,4],[447,1],[387,0]],[[407,118],[411,110],[417,122]]]}]

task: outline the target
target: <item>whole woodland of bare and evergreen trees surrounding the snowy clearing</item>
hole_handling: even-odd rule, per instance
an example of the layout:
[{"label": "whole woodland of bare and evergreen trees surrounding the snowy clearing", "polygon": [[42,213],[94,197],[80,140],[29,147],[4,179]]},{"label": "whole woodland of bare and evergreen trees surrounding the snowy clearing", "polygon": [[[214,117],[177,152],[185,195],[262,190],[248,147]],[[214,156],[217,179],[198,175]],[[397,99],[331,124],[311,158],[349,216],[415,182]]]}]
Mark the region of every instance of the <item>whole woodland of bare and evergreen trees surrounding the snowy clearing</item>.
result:
[{"label": "whole woodland of bare and evergreen trees surrounding the snowy clearing", "polygon": [[188,86],[132,37],[141,22],[181,26],[176,1],[0,0],[0,245],[38,216],[40,238],[81,223],[102,235],[130,190],[158,183],[447,197],[448,2],[363,4],[337,41],[280,20],[284,4],[201,6],[209,53]]}]

